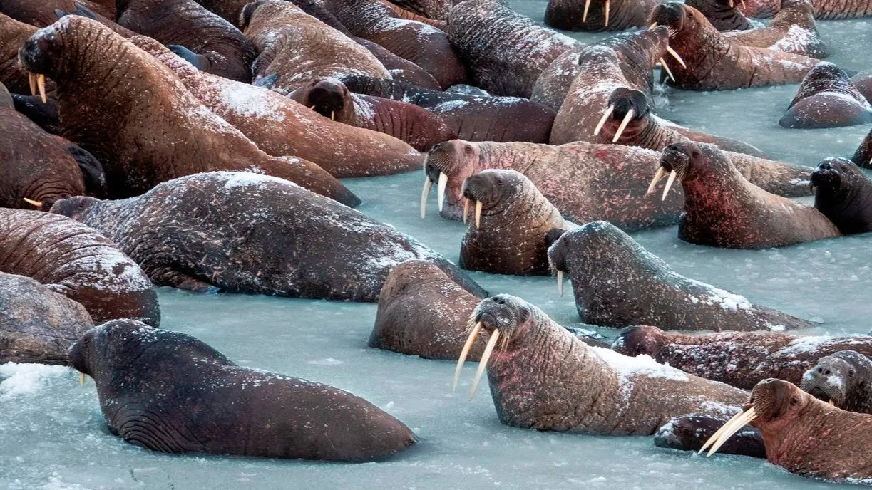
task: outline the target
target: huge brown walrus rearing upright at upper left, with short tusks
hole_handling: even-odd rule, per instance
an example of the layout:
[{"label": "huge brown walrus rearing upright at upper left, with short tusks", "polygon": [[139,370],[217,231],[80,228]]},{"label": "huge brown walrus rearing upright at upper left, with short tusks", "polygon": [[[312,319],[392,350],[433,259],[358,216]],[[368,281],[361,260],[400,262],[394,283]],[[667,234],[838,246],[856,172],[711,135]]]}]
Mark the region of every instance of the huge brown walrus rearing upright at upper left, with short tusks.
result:
[{"label": "huge brown walrus rearing upright at upper left, with short tusks", "polygon": [[103,164],[112,198],[183,175],[235,170],[287,178],[347,205],[360,202],[316,164],[258,150],[166,66],[91,19],[67,16],[38,30],[20,57],[26,70],[58,83],[64,136]]}]

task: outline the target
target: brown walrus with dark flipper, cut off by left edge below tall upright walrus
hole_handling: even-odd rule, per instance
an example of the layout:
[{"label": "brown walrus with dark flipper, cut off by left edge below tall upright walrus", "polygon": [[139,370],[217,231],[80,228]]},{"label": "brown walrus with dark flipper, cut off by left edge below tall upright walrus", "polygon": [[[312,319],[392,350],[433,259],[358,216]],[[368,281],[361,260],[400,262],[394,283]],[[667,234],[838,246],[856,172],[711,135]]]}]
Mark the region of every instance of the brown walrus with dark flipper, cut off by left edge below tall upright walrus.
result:
[{"label": "brown walrus with dark flipper, cut off by left edge below tall upright walrus", "polygon": [[103,166],[87,151],[48,134],[15,110],[0,84],[0,206],[48,210],[55,201],[90,193],[103,198]]}]

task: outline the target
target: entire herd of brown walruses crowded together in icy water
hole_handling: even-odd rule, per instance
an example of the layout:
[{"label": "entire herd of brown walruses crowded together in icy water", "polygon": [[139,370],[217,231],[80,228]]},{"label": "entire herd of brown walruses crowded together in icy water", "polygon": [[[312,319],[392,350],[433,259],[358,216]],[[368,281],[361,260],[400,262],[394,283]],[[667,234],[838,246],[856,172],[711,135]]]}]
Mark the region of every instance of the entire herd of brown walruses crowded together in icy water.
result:
[{"label": "entire herd of brown walruses crowded together in icy water", "polygon": [[[792,84],[778,131],[872,123],[872,71],[821,61],[816,21],[853,17],[869,0],[550,0],[555,29],[632,29],[585,44],[501,0],[0,1],[0,363],[90,376],[154,452],[381,461],[426,427],[174,332],[160,287],[371,303],[361,344],[456,360],[452,390],[478,361],[469,399],[487,373],[506,426],[872,483],[872,336],[812,335],[639,233],[750,258],[872,232],[872,132],[782,161],[664,103]],[[435,187],[456,265],[340,181],[408,171],[420,194],[378,192],[428,227]],[[487,274],[568,277],[575,310]]]}]

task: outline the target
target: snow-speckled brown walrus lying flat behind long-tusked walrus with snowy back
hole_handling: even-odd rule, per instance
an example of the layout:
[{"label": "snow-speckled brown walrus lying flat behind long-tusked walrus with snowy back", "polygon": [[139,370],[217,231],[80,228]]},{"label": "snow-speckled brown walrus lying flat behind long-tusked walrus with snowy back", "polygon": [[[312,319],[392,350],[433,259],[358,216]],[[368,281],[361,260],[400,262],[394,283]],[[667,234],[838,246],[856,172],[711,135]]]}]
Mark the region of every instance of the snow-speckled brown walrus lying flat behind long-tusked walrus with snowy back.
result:
[{"label": "snow-speckled brown walrus lying flat behind long-tusked walrus with snowy back", "polygon": [[800,337],[784,332],[685,335],[656,326],[630,326],[620,332],[612,348],[747,389],[766,378],[799,384],[818,359],[845,349],[872,355],[872,337]]}]

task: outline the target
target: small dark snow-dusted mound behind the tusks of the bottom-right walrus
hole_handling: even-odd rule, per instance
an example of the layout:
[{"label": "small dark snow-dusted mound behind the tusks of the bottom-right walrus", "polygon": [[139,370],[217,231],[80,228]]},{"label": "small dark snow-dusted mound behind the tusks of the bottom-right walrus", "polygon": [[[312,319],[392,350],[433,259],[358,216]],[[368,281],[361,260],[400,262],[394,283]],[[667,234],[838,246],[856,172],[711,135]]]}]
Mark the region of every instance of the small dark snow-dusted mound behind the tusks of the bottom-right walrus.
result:
[{"label": "small dark snow-dusted mound behind the tusks of the bottom-right walrus", "polygon": [[[712,434],[726,424],[727,420],[729,417],[712,417],[702,413],[674,417],[654,434],[654,445],[682,451],[698,451]],[[724,446],[721,446],[718,452],[766,458],[763,436],[752,426],[742,427],[724,443]]]}]

